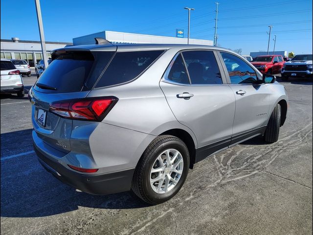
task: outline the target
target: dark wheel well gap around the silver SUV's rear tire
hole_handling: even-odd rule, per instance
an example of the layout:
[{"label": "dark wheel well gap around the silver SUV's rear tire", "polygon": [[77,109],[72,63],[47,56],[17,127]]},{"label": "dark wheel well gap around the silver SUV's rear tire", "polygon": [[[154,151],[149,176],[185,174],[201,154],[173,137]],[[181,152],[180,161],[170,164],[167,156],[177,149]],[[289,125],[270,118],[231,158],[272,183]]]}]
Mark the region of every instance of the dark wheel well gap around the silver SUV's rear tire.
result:
[{"label": "dark wheel well gap around the silver SUV's rear tire", "polygon": [[168,131],[163,132],[161,135],[175,136],[175,137],[179,138],[180,140],[182,140],[186,144],[186,146],[189,150],[189,156],[190,156],[189,168],[192,169],[194,164],[195,164],[195,161],[196,161],[196,147],[195,147],[194,140],[189,135],[189,133],[182,130],[182,129],[172,129],[172,130],[168,130]]}]

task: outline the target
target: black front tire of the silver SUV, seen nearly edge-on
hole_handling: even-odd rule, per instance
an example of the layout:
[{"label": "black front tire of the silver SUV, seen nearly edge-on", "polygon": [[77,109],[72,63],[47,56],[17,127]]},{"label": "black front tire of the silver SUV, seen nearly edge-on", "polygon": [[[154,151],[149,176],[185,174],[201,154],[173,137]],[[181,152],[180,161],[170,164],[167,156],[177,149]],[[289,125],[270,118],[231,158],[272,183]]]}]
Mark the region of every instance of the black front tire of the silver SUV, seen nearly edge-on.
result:
[{"label": "black front tire of the silver SUV, seen nearly edge-on", "polygon": [[280,119],[281,119],[281,107],[280,104],[277,104],[268,120],[268,126],[264,134],[264,140],[266,142],[274,143],[278,141]]}]

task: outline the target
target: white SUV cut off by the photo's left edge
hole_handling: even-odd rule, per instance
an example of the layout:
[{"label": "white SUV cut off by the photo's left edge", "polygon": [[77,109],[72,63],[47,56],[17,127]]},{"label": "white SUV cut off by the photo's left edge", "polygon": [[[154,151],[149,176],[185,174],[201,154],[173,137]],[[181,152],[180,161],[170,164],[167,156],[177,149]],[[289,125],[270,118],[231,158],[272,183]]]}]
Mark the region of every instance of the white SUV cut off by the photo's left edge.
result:
[{"label": "white SUV cut off by the photo's left edge", "polygon": [[1,59],[1,94],[16,93],[24,96],[24,84],[21,73],[12,61]]}]

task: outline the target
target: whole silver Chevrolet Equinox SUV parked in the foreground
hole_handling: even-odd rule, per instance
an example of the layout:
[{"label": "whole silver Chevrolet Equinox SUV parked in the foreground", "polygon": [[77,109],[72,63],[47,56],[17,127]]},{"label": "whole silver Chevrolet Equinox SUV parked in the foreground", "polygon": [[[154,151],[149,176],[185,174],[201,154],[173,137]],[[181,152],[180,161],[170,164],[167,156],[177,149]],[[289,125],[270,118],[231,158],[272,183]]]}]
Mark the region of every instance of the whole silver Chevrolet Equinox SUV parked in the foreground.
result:
[{"label": "whole silver Chevrolet Equinox SUV parked in the foreground", "polygon": [[220,47],[57,49],[29,92],[34,149],[81,191],[173,197],[202,159],[263,135],[277,141],[288,97],[273,75]]}]

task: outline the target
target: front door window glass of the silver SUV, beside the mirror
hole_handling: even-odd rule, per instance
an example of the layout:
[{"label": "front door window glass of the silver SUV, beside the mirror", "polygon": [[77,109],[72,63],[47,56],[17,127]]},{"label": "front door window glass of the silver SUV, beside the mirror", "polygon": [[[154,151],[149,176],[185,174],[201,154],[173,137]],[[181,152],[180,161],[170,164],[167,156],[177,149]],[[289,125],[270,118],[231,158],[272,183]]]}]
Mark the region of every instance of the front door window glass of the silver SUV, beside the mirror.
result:
[{"label": "front door window glass of the silver SUV, beside the mirror", "polygon": [[231,84],[249,84],[258,80],[256,72],[244,60],[225,52],[221,52],[221,55]]}]

